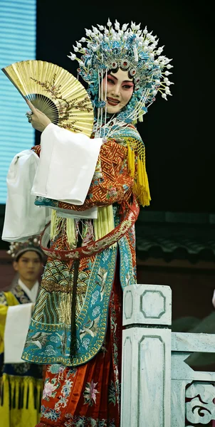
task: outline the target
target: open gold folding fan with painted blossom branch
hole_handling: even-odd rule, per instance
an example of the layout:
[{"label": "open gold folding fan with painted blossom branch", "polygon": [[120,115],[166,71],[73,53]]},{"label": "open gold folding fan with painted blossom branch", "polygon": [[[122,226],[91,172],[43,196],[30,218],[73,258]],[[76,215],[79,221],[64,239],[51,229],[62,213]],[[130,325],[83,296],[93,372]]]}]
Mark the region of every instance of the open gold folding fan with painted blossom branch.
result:
[{"label": "open gold folding fan with painted blossom branch", "polygon": [[2,71],[55,125],[90,137],[93,105],[83,85],[67,70],[42,60],[23,60]]}]

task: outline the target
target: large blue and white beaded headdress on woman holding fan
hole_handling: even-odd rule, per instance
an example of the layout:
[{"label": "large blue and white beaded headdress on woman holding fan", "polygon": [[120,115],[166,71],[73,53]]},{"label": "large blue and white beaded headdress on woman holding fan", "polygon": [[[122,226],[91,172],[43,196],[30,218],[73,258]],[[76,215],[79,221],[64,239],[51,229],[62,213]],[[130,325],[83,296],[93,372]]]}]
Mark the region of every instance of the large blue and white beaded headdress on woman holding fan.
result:
[{"label": "large blue and white beaded headdress on woman holding fan", "polygon": [[[161,93],[165,100],[171,95],[169,86],[173,83],[168,76],[172,74],[169,72],[172,65],[171,60],[161,55],[164,46],[157,48],[157,36],[152,36],[147,27],[142,31],[140,24],[132,22],[131,27],[124,23],[120,28],[117,21],[114,27],[108,19],[106,27],[98,25],[98,28],[92,27],[93,31],[86,29],[86,37],[76,41],[74,53],[70,52],[68,58],[78,60],[78,73],[89,84],[88,92],[93,95],[94,105],[101,110],[101,116],[106,101],[100,90],[103,77],[112,69],[127,70],[134,80],[135,90],[130,102],[117,114],[117,125],[119,122],[125,125],[138,118],[142,121],[142,115],[157,93]],[[102,117],[100,119],[102,121]]]}]

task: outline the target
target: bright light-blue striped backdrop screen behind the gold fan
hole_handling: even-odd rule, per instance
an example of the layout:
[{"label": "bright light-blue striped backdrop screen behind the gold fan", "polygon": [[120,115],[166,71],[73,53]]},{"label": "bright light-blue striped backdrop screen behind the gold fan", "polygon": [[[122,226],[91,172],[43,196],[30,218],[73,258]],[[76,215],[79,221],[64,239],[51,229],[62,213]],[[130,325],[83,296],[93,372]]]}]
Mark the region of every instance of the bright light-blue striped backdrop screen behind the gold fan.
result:
[{"label": "bright light-blue striped backdrop screen behind the gold fan", "polygon": [[[36,58],[36,0],[0,1],[0,68]],[[34,144],[26,102],[0,70],[0,204],[6,202],[6,174],[14,155]]]}]

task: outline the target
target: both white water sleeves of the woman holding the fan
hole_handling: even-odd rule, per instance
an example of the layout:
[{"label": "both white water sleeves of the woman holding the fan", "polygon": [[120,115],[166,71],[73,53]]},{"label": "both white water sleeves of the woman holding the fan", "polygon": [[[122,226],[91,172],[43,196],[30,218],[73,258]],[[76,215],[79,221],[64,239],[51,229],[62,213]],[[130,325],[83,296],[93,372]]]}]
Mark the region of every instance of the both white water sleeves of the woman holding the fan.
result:
[{"label": "both white water sleeves of the woman holding the fan", "polygon": [[[98,161],[102,138],[90,139],[51,123],[41,135],[40,159],[31,149],[16,154],[7,176],[8,197],[2,240],[26,241],[40,234],[50,209],[34,204],[35,196],[82,205]],[[97,218],[97,207],[74,218]],[[67,216],[61,209],[61,216]],[[60,214],[60,211],[59,211]]]}]

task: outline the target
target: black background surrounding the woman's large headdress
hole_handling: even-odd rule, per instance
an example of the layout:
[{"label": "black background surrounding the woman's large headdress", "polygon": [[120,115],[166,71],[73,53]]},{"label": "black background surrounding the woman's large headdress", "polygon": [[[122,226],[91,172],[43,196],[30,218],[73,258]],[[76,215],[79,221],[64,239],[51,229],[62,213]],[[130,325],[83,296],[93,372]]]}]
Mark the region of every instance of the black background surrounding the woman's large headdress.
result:
[{"label": "black background surrounding the woman's large headdress", "polygon": [[215,211],[214,17],[208,3],[189,1],[38,0],[37,59],[72,72],[67,55],[84,28],[141,21],[173,58],[172,97],[159,95],[138,126],[147,150],[151,210]]}]

